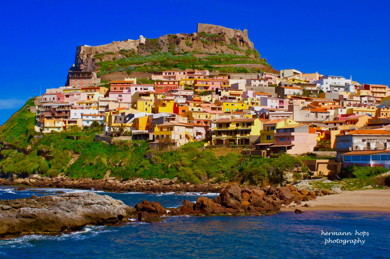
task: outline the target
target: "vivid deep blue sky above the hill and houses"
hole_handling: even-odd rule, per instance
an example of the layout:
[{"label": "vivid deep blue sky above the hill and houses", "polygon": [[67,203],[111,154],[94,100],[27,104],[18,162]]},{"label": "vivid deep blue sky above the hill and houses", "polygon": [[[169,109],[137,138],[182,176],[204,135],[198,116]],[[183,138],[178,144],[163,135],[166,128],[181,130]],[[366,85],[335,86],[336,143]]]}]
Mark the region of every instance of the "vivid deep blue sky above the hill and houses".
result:
[{"label": "vivid deep blue sky above the hill and houses", "polygon": [[[61,3],[64,2],[64,3]],[[248,29],[277,70],[387,84],[388,1],[3,1],[0,124],[29,97],[65,84],[76,46],[195,32],[197,23]]]}]

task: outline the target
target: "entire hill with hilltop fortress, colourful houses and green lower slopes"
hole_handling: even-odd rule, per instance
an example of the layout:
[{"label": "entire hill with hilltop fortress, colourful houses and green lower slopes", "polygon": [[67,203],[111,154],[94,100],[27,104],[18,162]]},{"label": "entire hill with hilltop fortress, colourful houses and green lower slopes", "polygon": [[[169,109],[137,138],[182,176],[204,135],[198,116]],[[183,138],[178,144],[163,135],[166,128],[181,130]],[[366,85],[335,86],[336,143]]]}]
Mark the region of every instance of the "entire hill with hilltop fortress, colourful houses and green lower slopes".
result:
[{"label": "entire hill with hilltop fortress, colourful houses and green lower slopes", "polygon": [[[191,34],[78,46],[65,85],[0,128],[0,173],[4,184],[121,191],[355,177],[356,188],[386,186],[375,176],[390,166],[389,124],[387,85],[277,71],[247,30],[199,23]],[[331,193],[351,190],[343,184]]]}]

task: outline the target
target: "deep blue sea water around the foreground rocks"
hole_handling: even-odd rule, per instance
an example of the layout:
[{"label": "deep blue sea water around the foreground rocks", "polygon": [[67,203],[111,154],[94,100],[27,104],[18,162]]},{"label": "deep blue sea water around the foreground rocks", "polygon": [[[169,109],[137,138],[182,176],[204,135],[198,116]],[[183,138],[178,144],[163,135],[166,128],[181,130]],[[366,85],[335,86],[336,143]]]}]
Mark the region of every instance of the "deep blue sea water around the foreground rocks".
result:
[{"label": "deep blue sea water around the foreground rocks", "polygon": [[[17,199],[56,191],[0,188],[0,199]],[[33,191],[38,190],[39,191]],[[44,192],[46,194],[38,194]],[[103,193],[134,206],[143,199],[177,207],[200,195]],[[216,194],[210,193],[210,198]],[[324,236],[324,232],[352,232]],[[368,236],[358,236],[368,232]],[[329,240],[364,240],[361,244]],[[87,226],[61,236],[31,235],[0,240],[0,258],[390,258],[390,215],[362,212],[281,212],[273,216],[175,216],[160,224],[132,222],[121,227]]]}]

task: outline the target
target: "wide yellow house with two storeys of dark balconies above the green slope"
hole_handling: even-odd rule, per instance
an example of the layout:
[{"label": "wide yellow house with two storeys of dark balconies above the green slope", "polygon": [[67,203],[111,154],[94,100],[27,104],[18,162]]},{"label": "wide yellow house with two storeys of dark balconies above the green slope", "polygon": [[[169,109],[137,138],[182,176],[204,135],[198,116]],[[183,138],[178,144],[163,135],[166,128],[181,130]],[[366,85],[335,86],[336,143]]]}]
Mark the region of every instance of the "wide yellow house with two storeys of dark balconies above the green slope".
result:
[{"label": "wide yellow house with two storeys of dark balconies above the green slope", "polygon": [[260,136],[262,122],[258,118],[220,119],[212,130],[214,145],[234,143],[248,145]]}]

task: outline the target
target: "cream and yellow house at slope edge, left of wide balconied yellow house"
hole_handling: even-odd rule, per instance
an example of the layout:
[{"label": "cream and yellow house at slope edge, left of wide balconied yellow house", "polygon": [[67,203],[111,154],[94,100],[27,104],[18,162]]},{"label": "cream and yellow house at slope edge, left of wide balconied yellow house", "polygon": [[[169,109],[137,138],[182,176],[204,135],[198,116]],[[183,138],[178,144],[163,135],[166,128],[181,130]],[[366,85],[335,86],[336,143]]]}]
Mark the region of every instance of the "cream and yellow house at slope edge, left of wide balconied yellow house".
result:
[{"label": "cream and yellow house at slope edge, left of wide balconied yellow house", "polygon": [[188,142],[193,142],[193,128],[194,126],[190,124],[174,121],[158,124],[154,128],[154,140],[158,142],[162,138],[168,137],[171,139],[172,145],[180,147]]}]

